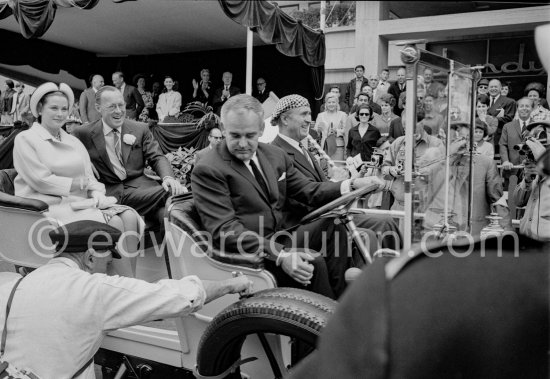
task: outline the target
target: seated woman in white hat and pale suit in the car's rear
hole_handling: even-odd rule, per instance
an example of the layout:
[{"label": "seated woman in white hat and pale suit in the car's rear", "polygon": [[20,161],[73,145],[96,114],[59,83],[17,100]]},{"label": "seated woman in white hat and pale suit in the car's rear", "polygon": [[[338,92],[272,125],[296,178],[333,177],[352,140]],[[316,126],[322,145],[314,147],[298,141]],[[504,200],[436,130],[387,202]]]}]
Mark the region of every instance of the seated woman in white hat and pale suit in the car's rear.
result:
[{"label": "seated woman in white hat and pale suit in the car's rear", "polygon": [[[46,215],[60,224],[95,220],[129,232],[121,238],[119,249],[135,253],[143,229],[139,215],[105,196],[105,186],[94,177],[88,151],[61,128],[73,103],[73,91],[64,83],[44,83],[34,91],[30,108],[38,121],[14,142],[15,195],[44,201],[49,205]],[[134,276],[133,262],[124,257],[120,261],[115,263],[117,272]]]}]

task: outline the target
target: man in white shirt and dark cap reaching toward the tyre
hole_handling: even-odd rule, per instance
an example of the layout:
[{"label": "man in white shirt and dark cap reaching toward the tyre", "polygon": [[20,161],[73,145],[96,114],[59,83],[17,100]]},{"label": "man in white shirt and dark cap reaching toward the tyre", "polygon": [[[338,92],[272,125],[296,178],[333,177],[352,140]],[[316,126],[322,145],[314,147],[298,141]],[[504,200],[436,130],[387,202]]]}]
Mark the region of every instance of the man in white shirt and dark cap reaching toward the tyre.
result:
[{"label": "man in white shirt and dark cap reaching toward the tyre", "polygon": [[[120,258],[117,229],[77,221],[50,232],[59,255],[27,275],[15,291],[4,357],[41,378],[95,378],[92,358],[115,329],[159,318],[182,317],[229,293],[250,289],[246,277],[219,282],[188,276],[143,280],[107,276]],[[0,327],[19,276],[0,285]]]}]

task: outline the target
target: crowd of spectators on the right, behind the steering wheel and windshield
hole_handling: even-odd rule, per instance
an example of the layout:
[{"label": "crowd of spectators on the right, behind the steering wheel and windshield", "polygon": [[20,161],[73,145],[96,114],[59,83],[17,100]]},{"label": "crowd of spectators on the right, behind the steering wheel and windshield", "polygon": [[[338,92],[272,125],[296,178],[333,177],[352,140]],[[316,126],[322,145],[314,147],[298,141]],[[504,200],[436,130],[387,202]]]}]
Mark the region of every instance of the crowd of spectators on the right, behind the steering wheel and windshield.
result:
[{"label": "crowd of spectators on the right, behind the steering wheel and windshield", "polygon": [[[437,76],[434,71],[426,67],[417,78],[414,167],[423,161],[434,161],[437,157],[445,156],[448,117],[452,127],[451,141],[464,139],[465,133],[461,134],[460,130],[464,125],[470,125],[467,120],[468,110],[452,103],[447,112],[448,97],[452,96],[449,94],[449,85],[445,76]],[[377,174],[381,178],[391,179],[393,190],[389,191],[386,201],[377,202],[375,206],[403,209],[403,172],[398,167],[402,167],[404,160],[406,70],[400,67],[396,72],[396,80],[391,83],[388,81],[387,69],[380,74],[370,74],[367,78],[365,67],[358,65],[354,73],[355,77],[347,83],[343,95],[340,95],[338,85],[329,88],[330,92],[325,97],[325,104],[315,120],[311,135],[318,136],[321,147],[335,163],[340,161],[343,164],[345,160],[351,173]],[[456,90],[455,86],[451,88],[451,91]],[[515,91],[519,92],[517,89]],[[515,175],[518,183],[523,179],[525,158],[520,156],[514,146],[526,141],[528,125],[539,121],[550,122],[550,110],[544,99],[542,84],[527,85],[523,89],[523,97],[517,101],[509,97],[511,93],[510,82],[485,78],[479,80],[475,125],[471,128],[475,154],[487,157],[491,167],[494,166],[494,171],[491,169],[489,172],[498,173],[496,178],[491,177],[490,187],[494,189],[501,185],[502,190],[510,193],[515,189],[508,188],[510,177]],[[338,150],[341,145],[345,146],[343,157]],[[426,151],[427,155],[424,156]],[[381,167],[378,170],[363,168],[361,171],[361,163],[370,163],[373,154],[384,156]],[[480,159],[476,158],[477,165]],[[491,190],[493,197],[498,195],[497,192]],[[460,196],[457,194],[457,197]]]}]

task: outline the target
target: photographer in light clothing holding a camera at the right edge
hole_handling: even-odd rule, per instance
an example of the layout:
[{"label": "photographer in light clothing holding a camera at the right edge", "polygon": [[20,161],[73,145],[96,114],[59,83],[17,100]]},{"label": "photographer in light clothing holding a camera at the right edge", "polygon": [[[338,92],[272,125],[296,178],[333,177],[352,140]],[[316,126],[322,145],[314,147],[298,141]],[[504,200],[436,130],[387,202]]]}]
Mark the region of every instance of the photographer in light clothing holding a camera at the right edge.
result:
[{"label": "photographer in light clothing holding a camera at the right edge", "polygon": [[539,241],[550,241],[550,149],[544,145],[548,145],[550,123],[536,122],[528,128],[525,144],[519,147],[526,157],[524,176],[514,191],[517,206],[525,206],[519,231]]}]

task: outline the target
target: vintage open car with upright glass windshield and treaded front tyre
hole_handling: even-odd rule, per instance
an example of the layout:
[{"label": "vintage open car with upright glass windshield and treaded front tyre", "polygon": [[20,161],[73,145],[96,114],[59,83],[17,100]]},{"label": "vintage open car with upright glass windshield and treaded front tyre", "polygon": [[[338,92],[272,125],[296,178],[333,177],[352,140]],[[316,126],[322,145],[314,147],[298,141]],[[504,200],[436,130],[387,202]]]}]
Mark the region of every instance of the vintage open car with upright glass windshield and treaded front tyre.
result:
[{"label": "vintage open car with upright glass windshield and treaded front tyre", "polygon": [[[419,248],[428,234],[429,238],[442,241],[459,238],[461,233],[472,231],[473,221],[479,221],[472,218],[476,196],[471,179],[476,159],[473,133],[458,137],[467,138],[463,155],[468,162],[460,167],[460,190],[449,153],[452,136],[456,135],[452,125],[474,125],[479,75],[475,69],[414,45],[403,47],[402,58],[407,65],[408,105],[416,104],[417,97],[426,93],[418,75],[426,67],[434,72],[439,83],[437,111],[445,120],[440,137],[447,153],[418,167],[413,159],[416,107],[407,106],[405,148],[399,162],[404,170],[399,195],[404,210],[389,212],[402,220],[403,249],[393,255]],[[456,109],[460,111],[458,119],[456,112],[451,115],[451,110]],[[431,172],[437,180],[426,179],[428,174],[421,169],[428,166],[434,168]],[[41,201],[14,196],[15,175],[15,170],[0,172],[0,259],[17,267],[36,268],[52,256],[52,244],[45,232],[51,225],[44,215],[48,207]],[[428,188],[435,182],[435,190]],[[397,186],[397,182],[391,184]],[[367,251],[352,216],[381,212],[353,208],[355,199],[373,190],[364,188],[344,195],[306,216],[302,223],[318,217],[340,218],[368,264],[380,254]],[[144,242],[145,254],[138,259],[138,278],[154,282],[193,274],[220,280],[240,272],[253,281],[255,293],[241,299],[237,295],[222,297],[188,317],[109,333],[95,358],[95,363],[103,367],[104,377],[283,377],[304,356],[304,351],[315,347],[336,303],[304,290],[277,288],[273,275],[257,256],[231,255],[213,248],[201,233],[203,227],[192,195],[171,199],[166,209],[165,235]],[[482,220],[485,233],[495,234],[502,229],[497,215],[492,217],[490,221]],[[382,255],[387,256],[385,253]]]}]

